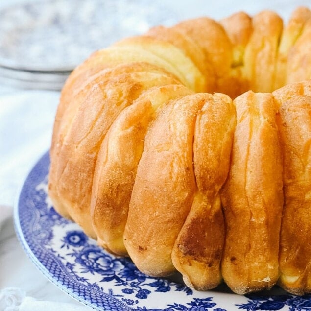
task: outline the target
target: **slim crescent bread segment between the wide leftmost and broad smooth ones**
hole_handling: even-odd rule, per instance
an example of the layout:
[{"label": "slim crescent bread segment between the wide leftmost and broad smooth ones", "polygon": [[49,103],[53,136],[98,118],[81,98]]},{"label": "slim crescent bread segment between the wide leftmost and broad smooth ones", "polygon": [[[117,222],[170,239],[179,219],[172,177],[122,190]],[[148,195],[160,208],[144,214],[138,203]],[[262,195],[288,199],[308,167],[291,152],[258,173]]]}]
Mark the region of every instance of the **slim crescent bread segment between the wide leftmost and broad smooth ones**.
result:
[{"label": "slim crescent bread segment between the wide leftmost and broad smooth ones", "polygon": [[123,232],[147,126],[167,101],[191,94],[181,84],[153,87],[125,108],[101,144],[92,189],[91,215],[99,245],[126,255]]}]

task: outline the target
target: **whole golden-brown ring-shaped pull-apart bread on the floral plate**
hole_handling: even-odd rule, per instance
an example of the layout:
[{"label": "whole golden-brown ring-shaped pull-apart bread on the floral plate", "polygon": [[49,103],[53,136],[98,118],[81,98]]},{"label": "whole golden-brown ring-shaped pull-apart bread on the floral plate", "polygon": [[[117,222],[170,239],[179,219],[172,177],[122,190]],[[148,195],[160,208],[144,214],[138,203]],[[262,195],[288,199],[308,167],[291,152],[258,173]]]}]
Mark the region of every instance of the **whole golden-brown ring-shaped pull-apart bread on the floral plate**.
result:
[{"label": "whole golden-brown ring-shaped pull-apart bread on the floral plate", "polygon": [[61,93],[56,211],[149,275],[310,293],[310,51],[303,7],[285,26],[202,17],[96,51]]}]

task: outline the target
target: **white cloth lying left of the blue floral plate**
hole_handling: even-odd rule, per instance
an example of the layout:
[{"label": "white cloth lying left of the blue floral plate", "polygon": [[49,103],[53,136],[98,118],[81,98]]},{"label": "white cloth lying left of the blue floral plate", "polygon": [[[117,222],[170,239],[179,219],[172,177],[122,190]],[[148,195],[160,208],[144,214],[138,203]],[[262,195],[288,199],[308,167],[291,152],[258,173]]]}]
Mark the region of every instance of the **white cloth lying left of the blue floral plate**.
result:
[{"label": "white cloth lying left of the blue floral plate", "polygon": [[0,311],[91,310],[37,270],[13,229],[17,192],[50,146],[59,95],[5,89],[1,96],[0,87]]}]

